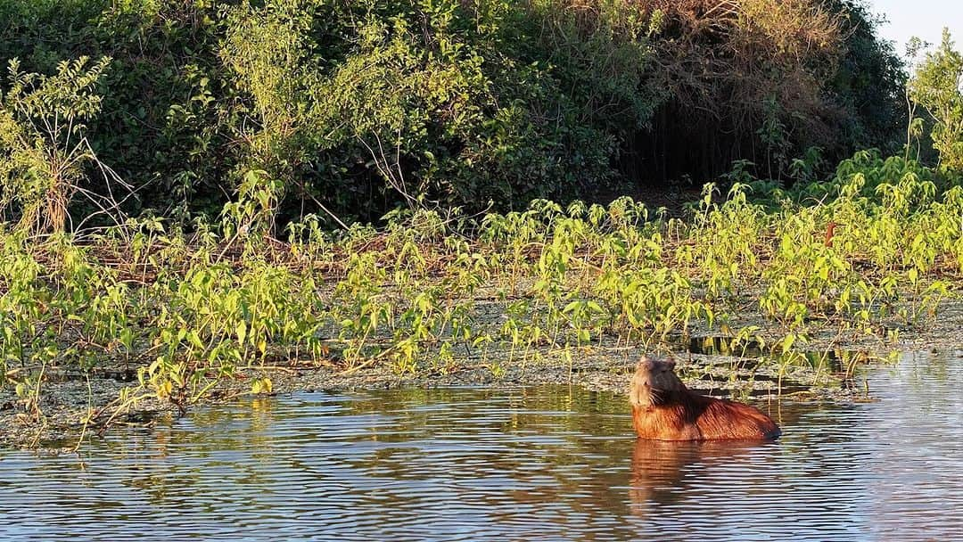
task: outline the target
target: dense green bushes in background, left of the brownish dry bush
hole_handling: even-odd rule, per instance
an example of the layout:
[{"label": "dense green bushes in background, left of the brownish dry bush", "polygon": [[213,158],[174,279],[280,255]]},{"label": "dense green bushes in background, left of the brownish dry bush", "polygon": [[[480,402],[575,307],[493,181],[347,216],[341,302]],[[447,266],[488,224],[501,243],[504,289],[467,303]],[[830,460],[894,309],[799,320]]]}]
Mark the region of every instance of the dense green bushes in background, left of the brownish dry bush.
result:
[{"label": "dense green bushes in background, left of the brownish dry bush", "polygon": [[[617,179],[617,141],[657,102],[648,18],[621,0],[582,12],[542,0],[3,0],[0,13],[0,61],[45,73],[114,59],[91,147],[135,187],[128,211],[179,219],[213,217],[251,169],[281,182],[282,221],[322,205],[370,218],[420,197],[481,207],[594,190]],[[49,39],[22,39],[38,33]]]}]

